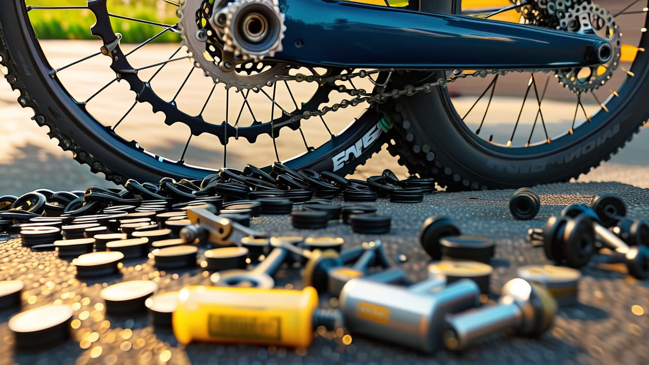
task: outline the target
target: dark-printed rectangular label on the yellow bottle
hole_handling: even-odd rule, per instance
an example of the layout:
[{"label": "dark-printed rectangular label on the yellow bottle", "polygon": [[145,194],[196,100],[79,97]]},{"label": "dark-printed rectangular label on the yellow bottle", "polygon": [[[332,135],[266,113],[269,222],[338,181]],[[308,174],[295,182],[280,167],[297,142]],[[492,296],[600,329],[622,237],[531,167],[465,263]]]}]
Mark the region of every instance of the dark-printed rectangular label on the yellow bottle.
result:
[{"label": "dark-printed rectangular label on the yellow bottle", "polygon": [[208,332],[213,338],[252,341],[281,341],[282,318],[278,316],[245,316],[210,314]]}]

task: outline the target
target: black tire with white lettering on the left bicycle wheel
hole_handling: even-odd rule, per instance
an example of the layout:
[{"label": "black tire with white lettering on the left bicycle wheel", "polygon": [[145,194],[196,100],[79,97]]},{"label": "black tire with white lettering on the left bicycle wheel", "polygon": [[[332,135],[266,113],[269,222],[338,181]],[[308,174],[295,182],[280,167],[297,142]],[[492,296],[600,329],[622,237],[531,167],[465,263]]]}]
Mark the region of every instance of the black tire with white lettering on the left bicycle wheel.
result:
[{"label": "black tire with white lettering on the left bicycle wheel", "polygon": [[[38,125],[48,127],[50,138],[56,138],[64,151],[73,151],[75,160],[90,166],[93,173],[103,173],[108,181],[123,184],[127,179],[140,182],[158,182],[162,177],[202,179],[214,172],[151,156],[101,125],[75,103],[64,86],[47,75],[50,68],[29,23],[23,0],[3,3],[0,12],[0,65],[8,70],[6,80],[20,92],[19,104],[34,110],[32,119]],[[295,170],[333,171],[332,158],[344,154],[363,136],[376,131],[382,118],[375,108],[369,108],[330,142],[286,164]],[[380,151],[386,137],[380,130],[379,133],[371,145],[363,145],[360,155],[347,154],[350,158],[335,172],[339,175],[352,173],[373,153]]]}]

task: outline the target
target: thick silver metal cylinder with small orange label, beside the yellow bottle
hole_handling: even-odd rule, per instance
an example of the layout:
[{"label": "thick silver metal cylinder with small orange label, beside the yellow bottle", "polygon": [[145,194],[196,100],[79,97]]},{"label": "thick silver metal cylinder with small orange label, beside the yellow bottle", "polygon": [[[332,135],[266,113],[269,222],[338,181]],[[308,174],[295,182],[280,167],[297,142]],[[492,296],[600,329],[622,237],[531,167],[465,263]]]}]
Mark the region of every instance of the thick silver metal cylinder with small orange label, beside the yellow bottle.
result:
[{"label": "thick silver metal cylinder with small orange label, beside the yellow bottle", "polygon": [[353,334],[363,334],[411,349],[432,353],[441,346],[445,316],[474,308],[480,303],[480,289],[471,280],[462,280],[442,290],[439,285],[417,284],[421,289],[352,279],[339,297],[345,327]]}]

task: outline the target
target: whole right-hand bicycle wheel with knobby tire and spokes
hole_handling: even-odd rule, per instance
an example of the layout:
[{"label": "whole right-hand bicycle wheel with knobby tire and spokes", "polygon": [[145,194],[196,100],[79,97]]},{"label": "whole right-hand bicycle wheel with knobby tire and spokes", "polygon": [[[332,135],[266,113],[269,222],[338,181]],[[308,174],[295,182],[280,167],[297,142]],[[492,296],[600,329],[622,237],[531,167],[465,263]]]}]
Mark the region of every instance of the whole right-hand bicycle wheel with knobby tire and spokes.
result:
[{"label": "whole right-hand bicycle wheel with knobby tire and spokes", "polygon": [[[439,3],[421,1],[422,6],[431,6],[422,11],[435,11]],[[445,90],[402,97],[387,108],[397,131],[391,135],[389,151],[411,173],[434,177],[449,190],[569,181],[607,160],[649,118],[649,55],[645,51],[649,38],[644,10],[648,4],[633,0],[597,3],[602,6],[576,2],[570,11],[590,19],[593,31],[608,32],[611,42],[621,34],[617,64],[584,77],[582,70],[468,76],[449,82]],[[451,1],[447,8],[483,17],[498,10],[470,9]],[[520,13],[509,10],[498,16],[519,21]],[[567,22],[567,27],[572,26]],[[452,72],[446,75],[473,71]],[[410,80],[396,79],[393,87],[419,79],[421,74],[411,75]]]}]

